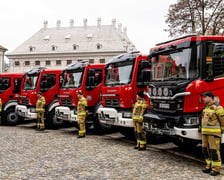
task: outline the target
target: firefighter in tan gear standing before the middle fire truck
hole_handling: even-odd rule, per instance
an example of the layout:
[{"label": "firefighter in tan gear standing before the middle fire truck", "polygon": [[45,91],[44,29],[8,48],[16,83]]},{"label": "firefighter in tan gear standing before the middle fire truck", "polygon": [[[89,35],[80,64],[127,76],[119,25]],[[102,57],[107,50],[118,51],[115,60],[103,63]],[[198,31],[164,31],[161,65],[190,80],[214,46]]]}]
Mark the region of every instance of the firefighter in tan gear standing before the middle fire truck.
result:
[{"label": "firefighter in tan gear standing before the middle fire truck", "polygon": [[77,93],[77,96],[79,99],[77,106],[79,135],[77,138],[84,138],[86,136],[87,100],[81,91]]}]

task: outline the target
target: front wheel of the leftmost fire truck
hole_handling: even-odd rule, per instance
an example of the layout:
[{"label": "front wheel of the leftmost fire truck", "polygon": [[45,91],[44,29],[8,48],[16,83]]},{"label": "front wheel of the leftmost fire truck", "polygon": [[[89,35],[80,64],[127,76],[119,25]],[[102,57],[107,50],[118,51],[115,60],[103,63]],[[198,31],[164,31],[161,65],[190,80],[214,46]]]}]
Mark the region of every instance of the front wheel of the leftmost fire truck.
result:
[{"label": "front wheel of the leftmost fire truck", "polygon": [[4,117],[3,119],[4,123],[12,126],[17,125],[20,120],[19,116],[15,113],[15,109],[13,108],[6,110],[3,117]]}]

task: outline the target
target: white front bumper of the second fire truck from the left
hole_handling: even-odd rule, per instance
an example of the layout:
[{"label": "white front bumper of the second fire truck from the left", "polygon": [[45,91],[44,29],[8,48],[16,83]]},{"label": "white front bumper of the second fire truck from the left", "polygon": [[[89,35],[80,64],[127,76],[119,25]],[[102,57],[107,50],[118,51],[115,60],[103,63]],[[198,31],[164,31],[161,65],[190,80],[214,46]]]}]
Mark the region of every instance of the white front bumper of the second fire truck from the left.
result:
[{"label": "white front bumper of the second fire truck from the left", "polygon": [[22,116],[27,119],[37,119],[37,113],[31,112],[30,108],[27,108],[24,105],[17,105],[16,106],[16,114]]}]

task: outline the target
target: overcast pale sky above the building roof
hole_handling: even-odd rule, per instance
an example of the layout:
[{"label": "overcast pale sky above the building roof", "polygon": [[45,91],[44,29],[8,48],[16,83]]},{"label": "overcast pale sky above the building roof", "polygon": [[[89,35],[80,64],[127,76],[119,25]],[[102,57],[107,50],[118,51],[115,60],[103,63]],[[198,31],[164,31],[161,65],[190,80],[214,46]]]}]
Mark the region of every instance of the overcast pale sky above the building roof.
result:
[{"label": "overcast pale sky above the building roof", "polygon": [[[101,18],[102,25],[111,24],[113,18],[117,24],[127,27],[127,34],[143,54],[156,43],[171,39],[165,16],[170,4],[177,0],[5,0],[0,6],[0,45],[13,51],[25,40],[43,27],[44,20],[48,27],[83,25],[83,18],[88,25],[96,25]],[[7,52],[6,52],[7,53]]]}]

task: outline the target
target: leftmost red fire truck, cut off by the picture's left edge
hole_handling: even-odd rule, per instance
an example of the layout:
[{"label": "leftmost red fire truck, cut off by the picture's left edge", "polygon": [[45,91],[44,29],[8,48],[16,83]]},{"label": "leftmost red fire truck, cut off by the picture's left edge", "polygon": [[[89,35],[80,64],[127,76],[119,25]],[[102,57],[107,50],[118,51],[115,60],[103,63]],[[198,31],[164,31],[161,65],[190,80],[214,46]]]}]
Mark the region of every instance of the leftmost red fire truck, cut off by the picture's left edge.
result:
[{"label": "leftmost red fire truck, cut off by the picture's left edge", "polygon": [[1,124],[14,125],[19,120],[22,120],[15,113],[15,106],[19,100],[22,76],[22,73],[0,74],[0,98],[2,100]]}]

